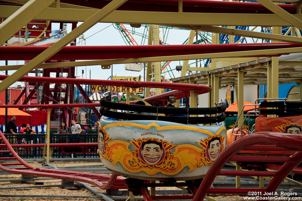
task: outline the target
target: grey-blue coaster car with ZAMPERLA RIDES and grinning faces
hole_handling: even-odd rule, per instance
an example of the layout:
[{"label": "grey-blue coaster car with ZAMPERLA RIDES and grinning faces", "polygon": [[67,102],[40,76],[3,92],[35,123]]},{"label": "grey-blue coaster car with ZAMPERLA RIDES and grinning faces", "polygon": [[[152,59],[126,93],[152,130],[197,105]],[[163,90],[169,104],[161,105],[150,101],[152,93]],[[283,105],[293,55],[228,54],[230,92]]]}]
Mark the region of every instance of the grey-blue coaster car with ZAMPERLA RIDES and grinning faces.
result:
[{"label": "grey-blue coaster car with ZAMPERLA RIDES and grinning faces", "polygon": [[[223,102],[216,103],[213,108],[172,108],[117,103],[111,102],[110,97],[104,97],[101,105],[103,117],[98,128],[99,154],[102,163],[119,175],[144,180],[156,178],[158,181],[168,181],[169,178],[199,179],[204,177],[225,149],[226,128],[223,121],[226,105]],[[132,114],[129,111],[154,115]],[[120,121],[105,119],[104,116]]]}]

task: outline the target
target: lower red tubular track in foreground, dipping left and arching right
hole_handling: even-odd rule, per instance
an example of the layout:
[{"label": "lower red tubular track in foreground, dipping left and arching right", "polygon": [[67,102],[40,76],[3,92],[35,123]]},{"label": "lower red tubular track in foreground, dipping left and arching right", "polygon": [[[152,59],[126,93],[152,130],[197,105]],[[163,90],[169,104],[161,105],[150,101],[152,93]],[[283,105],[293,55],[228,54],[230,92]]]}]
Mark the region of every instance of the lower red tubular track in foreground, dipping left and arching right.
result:
[{"label": "lower red tubular track in foreground, dipping left and arching right", "polygon": [[[0,141],[3,141],[5,144],[3,145],[8,150],[1,150],[0,153],[11,153],[9,157],[1,157],[0,160],[5,159],[14,159],[19,163],[14,164],[1,164],[0,169],[13,174],[28,174],[35,175],[40,177],[53,177],[58,179],[66,179],[71,181],[82,181],[88,184],[93,184],[101,189],[123,189],[126,188],[126,184],[124,184],[124,179],[117,177],[116,174],[112,174],[112,176],[108,175],[100,175],[93,173],[83,173],[83,172],[74,172],[74,171],[64,171],[58,169],[45,169],[45,168],[36,168],[31,165],[28,165],[24,162],[16,152],[12,146],[8,143],[8,140],[5,138],[3,133],[0,131]],[[207,193],[238,193],[238,194],[247,194],[250,191],[253,192],[275,192],[280,184],[284,181],[287,175],[292,171],[298,171],[300,168],[296,168],[302,162],[302,152],[301,152],[301,143],[302,136],[301,135],[292,135],[285,133],[273,133],[273,132],[260,132],[255,133],[253,135],[247,135],[245,137],[236,140],[230,146],[228,146],[218,157],[218,159],[213,163],[210,169],[207,171],[204,179],[202,180],[200,186],[197,187],[193,184],[188,184],[188,187],[191,191],[192,195],[185,196],[150,196],[147,187],[156,186],[159,184],[147,184],[144,183],[140,187],[141,193],[146,201],[159,200],[159,199],[192,199],[192,201],[202,201],[204,200]],[[272,169],[277,169],[276,172],[269,171],[236,171],[236,170],[221,170],[224,164],[228,161],[242,161],[246,159],[251,162],[263,161],[262,159],[266,159],[267,161],[273,161],[276,157],[259,157],[259,156],[234,156],[241,150],[245,148],[250,149],[249,146],[255,146],[259,144],[271,144],[280,147],[287,147],[285,149],[291,151],[297,151],[291,157],[278,157],[279,162],[284,162],[283,165],[274,167],[270,165],[269,167]],[[266,146],[257,146],[258,150],[266,149]],[[1,147],[2,148],[2,147]],[[288,160],[290,158],[290,161]],[[10,165],[22,165],[24,167],[20,168],[6,168],[5,166]],[[264,189],[257,188],[210,188],[213,183],[215,177],[217,175],[230,175],[230,176],[269,176],[273,177],[270,183]],[[263,196],[263,195],[262,195]]]}]

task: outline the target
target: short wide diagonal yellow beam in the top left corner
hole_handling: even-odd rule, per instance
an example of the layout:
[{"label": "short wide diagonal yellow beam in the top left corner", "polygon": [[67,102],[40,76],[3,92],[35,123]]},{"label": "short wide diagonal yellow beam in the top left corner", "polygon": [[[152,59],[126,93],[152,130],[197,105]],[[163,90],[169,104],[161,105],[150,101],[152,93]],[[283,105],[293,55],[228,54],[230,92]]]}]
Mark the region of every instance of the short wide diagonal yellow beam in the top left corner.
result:
[{"label": "short wide diagonal yellow beam in the top left corner", "polygon": [[[0,24],[0,46],[40,14],[54,0],[30,0]],[[0,9],[2,12],[2,10]],[[0,13],[1,13],[0,12]],[[27,28],[27,27],[25,27]]]}]

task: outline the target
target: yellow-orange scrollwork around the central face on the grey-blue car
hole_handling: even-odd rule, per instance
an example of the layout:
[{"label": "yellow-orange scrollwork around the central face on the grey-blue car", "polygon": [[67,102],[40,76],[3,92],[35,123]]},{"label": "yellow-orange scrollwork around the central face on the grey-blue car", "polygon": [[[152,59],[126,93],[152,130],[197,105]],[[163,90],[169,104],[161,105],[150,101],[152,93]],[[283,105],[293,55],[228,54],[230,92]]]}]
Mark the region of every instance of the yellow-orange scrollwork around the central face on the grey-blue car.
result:
[{"label": "yellow-orange scrollwork around the central face on the grey-blue car", "polygon": [[[156,144],[153,146],[144,145],[144,143],[152,142],[153,144],[161,144],[156,147]],[[192,171],[196,168],[196,164],[201,160],[201,155],[199,152],[202,151],[197,146],[190,144],[182,145],[173,145],[162,139],[157,138],[143,138],[143,139],[133,139],[132,141],[125,142],[122,140],[113,140],[108,143],[110,146],[110,158],[113,159],[113,164],[118,166],[122,165],[127,171],[136,173],[144,171],[149,175],[154,175],[158,172],[161,172],[166,175],[175,175],[178,174],[184,167],[189,167],[188,171]],[[129,146],[134,146],[134,150],[130,151]],[[143,149],[148,147],[148,149],[159,149],[158,152],[162,151],[162,155],[159,154],[156,159],[156,156],[150,161],[144,159]],[[171,153],[171,151],[175,151]],[[153,162],[154,161],[154,162]],[[149,163],[148,163],[149,162]]]}]

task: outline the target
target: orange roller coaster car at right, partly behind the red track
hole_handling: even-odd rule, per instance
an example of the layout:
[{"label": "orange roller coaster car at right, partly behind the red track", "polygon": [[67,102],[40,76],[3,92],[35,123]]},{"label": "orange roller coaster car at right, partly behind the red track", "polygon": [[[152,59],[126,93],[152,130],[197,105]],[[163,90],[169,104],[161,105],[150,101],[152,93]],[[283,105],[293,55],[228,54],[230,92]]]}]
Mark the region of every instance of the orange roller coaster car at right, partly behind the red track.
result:
[{"label": "orange roller coaster car at right, partly behind the red track", "polygon": [[[259,100],[259,99],[257,99]],[[257,102],[256,100],[256,102]],[[287,101],[283,99],[282,101],[275,102],[261,102],[259,105],[259,111],[252,113],[258,113],[259,117],[255,119],[255,128],[254,134],[259,132],[281,132],[281,133],[290,133],[290,134],[302,134],[301,133],[301,124],[302,124],[302,102],[299,101]],[[268,109],[271,108],[271,109]],[[246,115],[246,117],[249,115]],[[261,117],[266,115],[275,115],[276,117]],[[246,119],[245,117],[245,119]],[[237,124],[237,122],[236,122]],[[239,138],[250,134],[250,129],[240,129],[234,128],[226,131],[226,146],[229,146],[234,141]],[[247,154],[262,154],[262,155],[293,155],[295,152],[289,151],[249,151],[244,150],[240,153]]]}]

